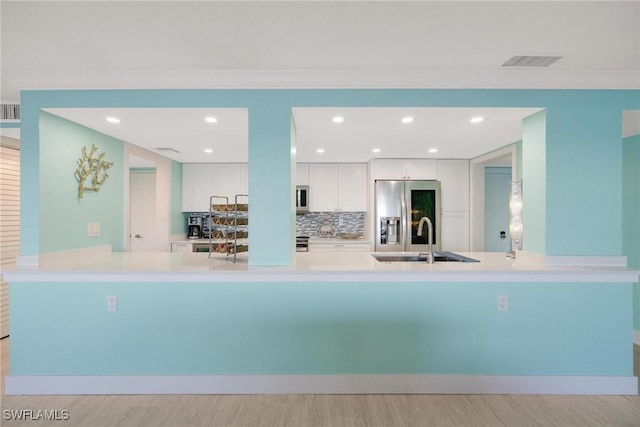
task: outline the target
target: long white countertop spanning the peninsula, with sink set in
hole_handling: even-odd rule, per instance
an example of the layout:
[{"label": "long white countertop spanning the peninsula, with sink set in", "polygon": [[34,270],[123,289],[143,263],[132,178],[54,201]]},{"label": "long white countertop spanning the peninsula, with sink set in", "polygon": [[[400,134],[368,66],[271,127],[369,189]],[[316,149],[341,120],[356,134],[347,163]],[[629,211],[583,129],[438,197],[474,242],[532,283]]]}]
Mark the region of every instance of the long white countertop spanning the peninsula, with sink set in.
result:
[{"label": "long white countertop spanning the peninsula, with sink set in", "polygon": [[297,252],[289,266],[250,266],[249,253],[106,252],[100,256],[58,256],[40,266],[5,269],[8,282],[28,281],[417,281],[417,282],[618,282],[638,281],[625,267],[549,266],[544,257],[471,252],[480,262],[379,262],[369,252]]}]

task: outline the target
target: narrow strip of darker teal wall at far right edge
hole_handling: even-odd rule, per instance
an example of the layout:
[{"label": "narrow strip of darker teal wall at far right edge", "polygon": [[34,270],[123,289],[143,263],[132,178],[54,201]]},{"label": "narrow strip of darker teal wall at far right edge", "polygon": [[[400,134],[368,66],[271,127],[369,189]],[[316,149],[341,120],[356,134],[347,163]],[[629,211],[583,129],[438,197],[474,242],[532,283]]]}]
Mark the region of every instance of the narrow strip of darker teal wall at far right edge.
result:
[{"label": "narrow strip of darker teal wall at far right edge", "polygon": [[[622,252],[640,270],[640,135],[622,145]],[[640,284],[634,287],[633,328],[640,332]]]}]

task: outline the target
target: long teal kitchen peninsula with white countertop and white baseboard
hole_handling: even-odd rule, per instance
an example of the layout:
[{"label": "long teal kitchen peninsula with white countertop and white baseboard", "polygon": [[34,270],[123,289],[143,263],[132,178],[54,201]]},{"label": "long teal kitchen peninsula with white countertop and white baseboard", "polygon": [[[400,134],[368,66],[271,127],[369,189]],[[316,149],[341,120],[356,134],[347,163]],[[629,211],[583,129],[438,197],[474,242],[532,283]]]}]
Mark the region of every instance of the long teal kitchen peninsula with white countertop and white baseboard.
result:
[{"label": "long teal kitchen peninsula with white countertop and white baseboard", "polygon": [[638,391],[618,260],[100,253],[3,272],[8,394]]}]

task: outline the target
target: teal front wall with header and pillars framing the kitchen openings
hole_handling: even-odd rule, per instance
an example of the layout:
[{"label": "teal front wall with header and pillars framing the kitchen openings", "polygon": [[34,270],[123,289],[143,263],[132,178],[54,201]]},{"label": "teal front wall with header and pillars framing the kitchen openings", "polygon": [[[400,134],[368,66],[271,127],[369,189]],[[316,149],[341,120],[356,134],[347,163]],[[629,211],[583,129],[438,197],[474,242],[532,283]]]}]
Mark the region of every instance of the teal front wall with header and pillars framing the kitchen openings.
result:
[{"label": "teal front wall with header and pillars framing the kitchen openings", "polygon": [[[640,109],[639,95],[637,90],[23,91],[22,161],[27,167],[22,174],[22,219],[35,226],[23,233],[21,252],[34,255],[41,249],[39,150],[44,141],[38,117],[42,108],[248,108],[249,262],[287,265],[294,255],[291,222],[295,220],[290,206],[291,108],[536,107],[546,109],[545,144],[540,148],[546,157],[531,165],[525,129],[525,249],[553,255],[620,255],[621,230],[614,224],[621,218],[621,115],[623,110]],[[580,185],[584,183],[589,185]],[[593,188],[606,189],[604,196]],[[588,209],[596,204],[598,209]],[[586,233],[589,227],[595,231]],[[541,237],[531,230],[542,232]]]}]

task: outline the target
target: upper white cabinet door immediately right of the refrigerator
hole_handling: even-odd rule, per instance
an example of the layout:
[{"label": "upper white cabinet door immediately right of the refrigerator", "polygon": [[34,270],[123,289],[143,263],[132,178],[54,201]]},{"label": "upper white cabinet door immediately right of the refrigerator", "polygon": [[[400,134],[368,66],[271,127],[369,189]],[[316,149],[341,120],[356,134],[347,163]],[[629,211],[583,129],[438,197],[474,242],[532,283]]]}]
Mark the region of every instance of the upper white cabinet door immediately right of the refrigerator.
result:
[{"label": "upper white cabinet door immediately right of the refrigerator", "polygon": [[469,210],[469,161],[438,160],[442,211]]}]

